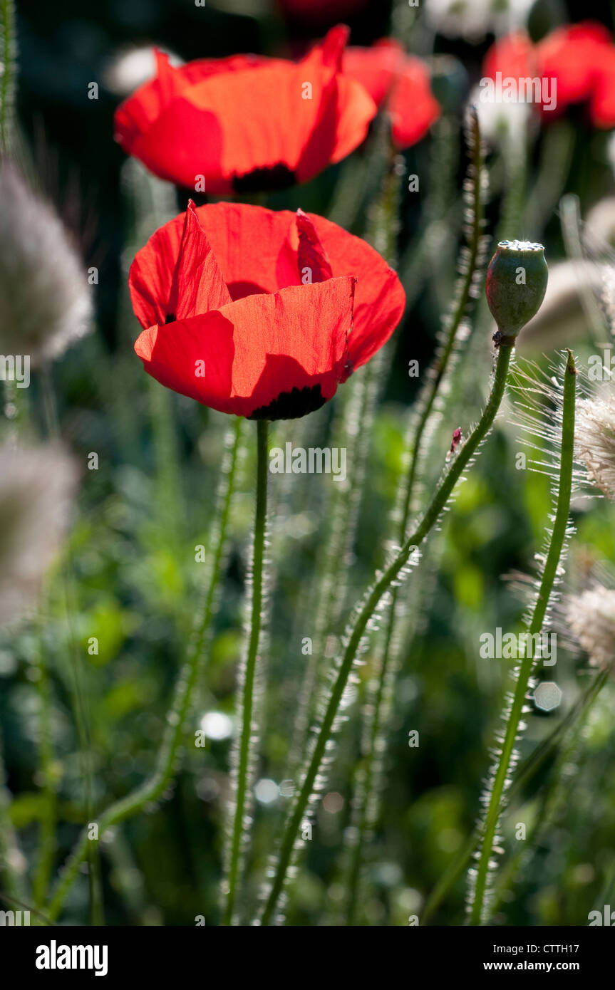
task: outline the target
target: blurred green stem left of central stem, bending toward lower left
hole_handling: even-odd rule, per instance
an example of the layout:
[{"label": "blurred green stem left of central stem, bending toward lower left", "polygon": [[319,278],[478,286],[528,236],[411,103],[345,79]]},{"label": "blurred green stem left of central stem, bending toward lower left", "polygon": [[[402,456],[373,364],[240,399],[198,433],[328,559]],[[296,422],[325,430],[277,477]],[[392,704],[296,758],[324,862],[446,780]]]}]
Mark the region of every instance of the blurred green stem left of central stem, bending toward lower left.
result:
[{"label": "blurred green stem left of central stem, bending toward lower left", "polygon": [[[201,659],[205,654],[211,621],[214,614],[216,594],[224,561],[226,535],[231,513],[231,502],[235,484],[235,472],[241,444],[242,420],[237,419],[230,455],[223,469],[223,481],[219,499],[219,516],[215,529],[215,549],[209,586],[206,593],[202,619],[197,626],[188,657],[182,667],[175,686],[173,703],[166,717],[164,734],[152,776],[126,797],[112,804],[98,819],[98,835],[102,837],[112,826],[138,814],[146,805],[157,801],[174,777],[178,750],[183,739],[186,718],[190,711],[192,695],[201,669]],[[75,848],[67,860],[51,897],[47,914],[51,922],[61,911],[66,894],[74,883],[79,866],[87,857],[89,849],[88,830],[83,830]]]}]

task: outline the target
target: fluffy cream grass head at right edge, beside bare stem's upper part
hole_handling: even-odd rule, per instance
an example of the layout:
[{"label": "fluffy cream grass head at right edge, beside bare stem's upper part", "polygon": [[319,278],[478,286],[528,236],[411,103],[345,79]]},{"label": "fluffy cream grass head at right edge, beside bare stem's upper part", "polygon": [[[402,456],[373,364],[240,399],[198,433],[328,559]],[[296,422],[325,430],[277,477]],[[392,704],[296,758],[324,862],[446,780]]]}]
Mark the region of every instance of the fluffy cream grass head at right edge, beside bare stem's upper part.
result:
[{"label": "fluffy cream grass head at right edge, beside bare stem's upper part", "polygon": [[615,390],[581,399],[576,407],[574,440],[590,479],[615,499]]}]

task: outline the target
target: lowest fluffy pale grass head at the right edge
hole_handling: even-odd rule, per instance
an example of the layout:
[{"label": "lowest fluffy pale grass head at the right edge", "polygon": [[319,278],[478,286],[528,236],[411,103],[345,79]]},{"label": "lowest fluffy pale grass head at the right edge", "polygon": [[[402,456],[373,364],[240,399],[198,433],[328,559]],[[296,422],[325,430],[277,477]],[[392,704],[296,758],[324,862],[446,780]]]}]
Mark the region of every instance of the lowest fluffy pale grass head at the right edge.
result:
[{"label": "lowest fluffy pale grass head at the right edge", "polygon": [[565,616],[570,632],[593,667],[604,670],[615,662],[615,591],[602,584],[569,595]]}]

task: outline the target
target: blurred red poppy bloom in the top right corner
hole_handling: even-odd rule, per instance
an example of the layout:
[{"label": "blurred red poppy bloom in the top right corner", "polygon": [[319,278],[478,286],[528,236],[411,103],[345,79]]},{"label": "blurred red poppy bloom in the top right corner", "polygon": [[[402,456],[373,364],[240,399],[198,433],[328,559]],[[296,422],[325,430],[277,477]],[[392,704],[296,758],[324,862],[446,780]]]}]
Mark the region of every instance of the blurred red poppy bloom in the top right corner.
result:
[{"label": "blurred red poppy bloom in the top right corner", "polygon": [[571,103],[588,101],[594,126],[615,125],[615,46],[600,24],[558,28],[538,45],[525,32],[515,32],[497,41],[485,56],[485,77],[495,79],[497,72],[502,79],[549,79],[557,105],[555,110],[542,107],[546,118]]}]

